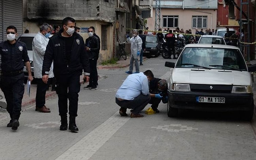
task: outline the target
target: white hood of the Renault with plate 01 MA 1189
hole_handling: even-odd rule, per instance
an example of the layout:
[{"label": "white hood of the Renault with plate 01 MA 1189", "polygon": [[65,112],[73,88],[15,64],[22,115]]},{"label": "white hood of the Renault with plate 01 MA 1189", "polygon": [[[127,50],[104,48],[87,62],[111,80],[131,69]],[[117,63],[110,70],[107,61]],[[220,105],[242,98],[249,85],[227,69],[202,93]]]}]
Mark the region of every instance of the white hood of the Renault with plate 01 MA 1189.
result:
[{"label": "white hood of the Renault with plate 01 MA 1189", "polygon": [[245,85],[252,84],[247,71],[175,68],[171,74],[172,83]]}]

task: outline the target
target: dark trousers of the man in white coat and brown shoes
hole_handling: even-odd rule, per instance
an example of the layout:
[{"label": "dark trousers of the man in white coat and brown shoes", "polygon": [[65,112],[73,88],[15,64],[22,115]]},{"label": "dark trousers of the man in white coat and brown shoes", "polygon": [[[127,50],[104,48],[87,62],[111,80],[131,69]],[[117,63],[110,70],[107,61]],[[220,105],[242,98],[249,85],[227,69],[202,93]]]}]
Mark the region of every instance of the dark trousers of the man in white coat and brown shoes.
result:
[{"label": "dark trousers of the man in white coat and brown shoes", "polygon": [[35,106],[42,108],[45,105],[45,94],[47,84],[42,81],[42,78],[37,78],[37,93],[35,95]]}]

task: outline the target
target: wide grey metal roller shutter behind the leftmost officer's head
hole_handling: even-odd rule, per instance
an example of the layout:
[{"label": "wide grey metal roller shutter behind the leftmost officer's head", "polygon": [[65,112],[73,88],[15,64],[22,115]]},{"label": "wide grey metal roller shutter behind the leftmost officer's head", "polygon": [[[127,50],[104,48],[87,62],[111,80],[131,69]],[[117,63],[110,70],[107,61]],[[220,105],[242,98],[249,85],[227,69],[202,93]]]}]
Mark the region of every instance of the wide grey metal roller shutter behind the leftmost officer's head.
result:
[{"label": "wide grey metal roller shutter behind the leftmost officer's head", "polygon": [[22,0],[3,1],[3,31],[6,40],[5,30],[8,26],[15,26],[18,35],[22,34]]}]

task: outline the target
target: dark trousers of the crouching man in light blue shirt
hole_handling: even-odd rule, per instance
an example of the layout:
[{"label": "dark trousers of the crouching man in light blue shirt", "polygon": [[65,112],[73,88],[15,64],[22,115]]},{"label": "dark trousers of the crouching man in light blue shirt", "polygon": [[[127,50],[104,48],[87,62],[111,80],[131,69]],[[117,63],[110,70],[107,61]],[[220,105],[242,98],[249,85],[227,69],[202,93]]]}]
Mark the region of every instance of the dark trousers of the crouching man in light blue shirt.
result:
[{"label": "dark trousers of the crouching man in light blue shirt", "polygon": [[134,114],[139,114],[142,111],[148,102],[150,101],[150,95],[140,94],[138,97],[135,97],[133,100],[123,100],[119,101],[116,98],[116,104],[123,108],[133,109]]}]

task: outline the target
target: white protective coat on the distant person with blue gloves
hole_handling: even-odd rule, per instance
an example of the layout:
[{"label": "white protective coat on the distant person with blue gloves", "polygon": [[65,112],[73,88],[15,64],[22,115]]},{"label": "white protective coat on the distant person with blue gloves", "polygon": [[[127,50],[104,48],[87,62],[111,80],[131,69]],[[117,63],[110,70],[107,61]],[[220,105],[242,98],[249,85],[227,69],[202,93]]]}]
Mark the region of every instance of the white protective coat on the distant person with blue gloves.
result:
[{"label": "white protective coat on the distant person with blue gloves", "polygon": [[127,38],[127,42],[131,43],[131,53],[134,59],[138,59],[140,55],[137,55],[137,51],[141,51],[142,39],[139,36]]}]

